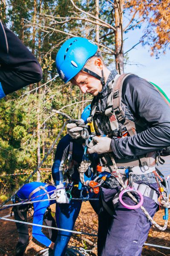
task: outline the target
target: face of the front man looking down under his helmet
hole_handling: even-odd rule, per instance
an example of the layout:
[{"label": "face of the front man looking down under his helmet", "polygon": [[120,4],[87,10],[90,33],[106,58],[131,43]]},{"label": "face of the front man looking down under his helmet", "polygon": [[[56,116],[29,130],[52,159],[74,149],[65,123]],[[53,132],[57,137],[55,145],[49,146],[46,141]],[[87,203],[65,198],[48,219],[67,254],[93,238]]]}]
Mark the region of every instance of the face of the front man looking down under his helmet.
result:
[{"label": "face of the front man looking down under his helmet", "polygon": [[82,93],[90,93],[93,96],[97,96],[102,90],[101,81],[82,70],[71,79],[71,82],[78,85]]}]

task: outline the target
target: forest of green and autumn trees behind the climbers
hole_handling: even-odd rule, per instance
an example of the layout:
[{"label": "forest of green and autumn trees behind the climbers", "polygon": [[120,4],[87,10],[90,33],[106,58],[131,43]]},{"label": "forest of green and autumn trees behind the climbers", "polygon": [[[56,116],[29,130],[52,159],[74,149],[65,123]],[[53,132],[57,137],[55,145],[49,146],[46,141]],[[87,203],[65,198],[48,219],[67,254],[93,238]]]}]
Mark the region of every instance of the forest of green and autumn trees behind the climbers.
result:
[{"label": "forest of green and autumn trees behind the climbers", "polygon": [[[66,116],[80,118],[92,99],[58,77],[55,57],[61,44],[72,36],[91,39],[109,68],[116,67],[121,74],[130,62],[130,50],[138,44],[148,45],[153,58],[169,49],[170,2],[0,0],[0,18],[35,54],[43,70],[39,83],[0,100],[0,199],[5,200],[26,179],[24,173],[40,163]],[[125,52],[126,35],[141,26],[140,40]],[[44,171],[51,169],[54,154],[55,148],[43,163]],[[51,180],[51,173],[41,170],[32,180]]]}]

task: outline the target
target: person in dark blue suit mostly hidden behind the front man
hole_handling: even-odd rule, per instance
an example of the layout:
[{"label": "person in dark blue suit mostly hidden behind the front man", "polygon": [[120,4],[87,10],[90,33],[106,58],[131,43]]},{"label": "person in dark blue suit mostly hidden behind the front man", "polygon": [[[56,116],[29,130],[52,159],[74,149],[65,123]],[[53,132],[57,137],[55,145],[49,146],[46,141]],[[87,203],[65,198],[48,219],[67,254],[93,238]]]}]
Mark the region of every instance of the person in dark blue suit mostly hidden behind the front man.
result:
[{"label": "person in dark blue suit mostly hidden behind the front man", "polygon": [[[90,114],[90,105],[88,105],[83,113],[81,114],[81,119],[86,123],[86,119]],[[72,137],[67,134],[64,136],[57,145],[55,152],[55,160],[52,166],[52,177],[55,182],[55,186],[58,190],[52,195],[52,198],[56,198],[57,208],[57,226],[62,229],[73,230],[75,221],[79,215],[82,201],[71,200],[69,201],[67,194],[71,193],[72,197],[80,198],[81,190],[77,188],[79,183],[79,173],[78,167],[81,164],[84,155],[84,147],[81,144],[73,142]],[[63,164],[68,160],[68,169],[63,174]],[[90,156],[92,161],[92,166],[97,164],[96,154]],[[93,169],[95,171],[95,169]],[[70,189],[64,189],[66,184],[72,184],[73,187]],[[82,190],[83,196],[89,195],[89,198],[96,197],[96,194]],[[88,193],[87,193],[88,192]],[[98,196],[97,196],[98,197]],[[92,208],[98,214],[98,201],[89,201]],[[69,242],[72,233],[65,231],[58,231],[58,237],[55,242],[55,256],[64,256],[66,253],[66,247]]]}]

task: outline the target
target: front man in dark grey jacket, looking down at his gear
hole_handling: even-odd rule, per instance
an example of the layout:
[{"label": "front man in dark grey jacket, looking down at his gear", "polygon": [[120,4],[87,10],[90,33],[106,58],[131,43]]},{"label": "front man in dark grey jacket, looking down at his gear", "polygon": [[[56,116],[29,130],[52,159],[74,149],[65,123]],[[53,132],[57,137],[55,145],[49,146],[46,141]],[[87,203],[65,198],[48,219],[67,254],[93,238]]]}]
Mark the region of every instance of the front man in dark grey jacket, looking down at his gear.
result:
[{"label": "front man in dark grey jacket, looking down at his gear", "polygon": [[[94,96],[88,121],[98,137],[89,153],[100,154],[101,170],[111,172],[101,191],[98,255],[139,256],[151,223],[140,208],[124,208],[118,196],[129,182],[141,191],[143,206],[154,216],[158,207],[156,152],[170,146],[170,108],[146,80],[110,71],[98,47],[86,38],[67,40],[58,51],[56,65],[64,82],[71,81]],[[68,124],[67,129],[74,139],[81,139],[80,127]],[[128,195],[124,202],[133,204]]]}]

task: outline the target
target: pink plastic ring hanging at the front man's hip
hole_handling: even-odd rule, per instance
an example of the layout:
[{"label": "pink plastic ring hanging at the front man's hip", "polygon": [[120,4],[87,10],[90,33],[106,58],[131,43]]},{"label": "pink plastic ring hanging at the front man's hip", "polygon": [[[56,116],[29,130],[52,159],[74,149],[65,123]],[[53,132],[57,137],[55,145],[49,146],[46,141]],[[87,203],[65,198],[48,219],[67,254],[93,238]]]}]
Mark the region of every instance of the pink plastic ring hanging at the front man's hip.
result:
[{"label": "pink plastic ring hanging at the front man's hip", "polygon": [[[125,204],[124,201],[122,200],[122,196],[123,196],[125,193],[127,193],[127,192],[135,192],[135,193],[137,193],[137,194],[140,196],[141,201],[140,201],[138,204],[136,204],[136,205],[128,205],[128,204]],[[130,186],[127,186],[126,189],[124,189],[124,190],[121,191],[121,193],[120,193],[120,195],[119,195],[119,200],[120,200],[121,204],[123,204],[123,206],[124,206],[125,208],[127,208],[127,209],[138,209],[138,208],[141,207],[141,205],[143,204],[143,202],[144,202],[144,197],[143,197],[143,195],[141,194],[141,192],[139,192],[138,190],[135,190],[133,187],[131,188]]]}]

